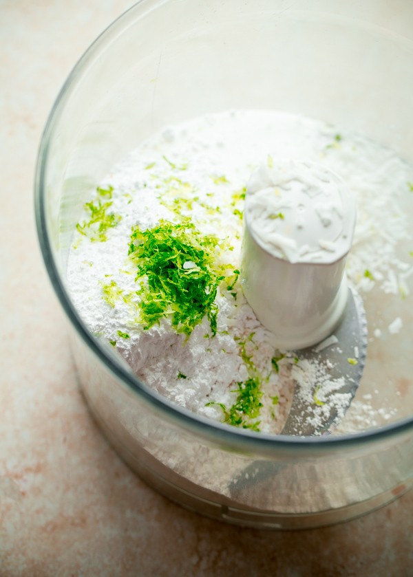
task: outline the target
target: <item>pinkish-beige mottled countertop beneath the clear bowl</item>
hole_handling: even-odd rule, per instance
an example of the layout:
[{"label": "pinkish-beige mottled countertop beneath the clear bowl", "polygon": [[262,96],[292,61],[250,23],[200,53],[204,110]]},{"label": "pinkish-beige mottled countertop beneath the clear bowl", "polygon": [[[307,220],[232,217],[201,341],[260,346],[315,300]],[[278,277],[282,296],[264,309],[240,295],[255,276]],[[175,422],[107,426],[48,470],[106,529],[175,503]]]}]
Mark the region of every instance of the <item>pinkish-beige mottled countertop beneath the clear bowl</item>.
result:
[{"label": "pinkish-beige mottled countertop beneath the clear bowl", "polygon": [[36,241],[32,182],[65,77],[129,6],[0,2],[0,575],[411,576],[412,492],[321,530],[231,527],[151,490],[87,412]]}]

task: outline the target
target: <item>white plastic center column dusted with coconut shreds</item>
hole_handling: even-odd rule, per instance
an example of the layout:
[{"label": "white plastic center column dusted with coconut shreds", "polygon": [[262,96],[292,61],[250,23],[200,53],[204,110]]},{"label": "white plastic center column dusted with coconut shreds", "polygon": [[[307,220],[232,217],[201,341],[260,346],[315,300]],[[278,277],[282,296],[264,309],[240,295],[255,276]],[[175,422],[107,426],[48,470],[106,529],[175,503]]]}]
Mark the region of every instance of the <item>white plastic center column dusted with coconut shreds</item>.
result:
[{"label": "white plastic center column dusted with coconut shreds", "polygon": [[251,175],[242,285],[275,346],[301,349],[332,333],[346,307],[355,220],[348,188],[324,166],[290,160]]}]

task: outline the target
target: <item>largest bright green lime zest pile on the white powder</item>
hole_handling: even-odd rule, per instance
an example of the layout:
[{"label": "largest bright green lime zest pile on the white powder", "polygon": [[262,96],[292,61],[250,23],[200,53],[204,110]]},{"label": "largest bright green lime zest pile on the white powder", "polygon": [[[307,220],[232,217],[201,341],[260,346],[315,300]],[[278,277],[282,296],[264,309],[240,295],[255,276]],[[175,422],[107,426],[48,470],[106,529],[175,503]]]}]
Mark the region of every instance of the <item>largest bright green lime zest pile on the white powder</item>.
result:
[{"label": "largest bright green lime zest pile on the white powder", "polygon": [[173,224],[161,220],[145,231],[132,229],[129,257],[137,267],[136,281],[145,279],[140,295],[140,322],[149,329],[170,318],[178,333],[187,336],[207,316],[217,331],[215,296],[225,268],[215,263],[218,238],[202,235],[185,219]]}]

